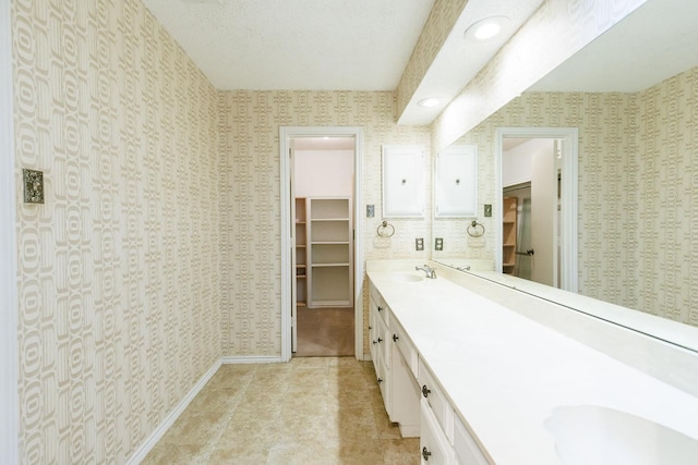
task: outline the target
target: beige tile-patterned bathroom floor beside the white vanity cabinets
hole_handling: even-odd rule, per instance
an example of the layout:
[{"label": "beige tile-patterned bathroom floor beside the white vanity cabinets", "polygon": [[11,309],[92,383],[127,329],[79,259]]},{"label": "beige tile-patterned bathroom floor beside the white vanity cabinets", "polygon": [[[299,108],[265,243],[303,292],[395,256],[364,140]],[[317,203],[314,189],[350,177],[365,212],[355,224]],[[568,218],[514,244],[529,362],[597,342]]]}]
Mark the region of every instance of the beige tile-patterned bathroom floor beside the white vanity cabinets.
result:
[{"label": "beige tile-patterned bathroom floor beside the white vanity cabinets", "polygon": [[370,362],[224,365],[143,464],[419,464]]}]

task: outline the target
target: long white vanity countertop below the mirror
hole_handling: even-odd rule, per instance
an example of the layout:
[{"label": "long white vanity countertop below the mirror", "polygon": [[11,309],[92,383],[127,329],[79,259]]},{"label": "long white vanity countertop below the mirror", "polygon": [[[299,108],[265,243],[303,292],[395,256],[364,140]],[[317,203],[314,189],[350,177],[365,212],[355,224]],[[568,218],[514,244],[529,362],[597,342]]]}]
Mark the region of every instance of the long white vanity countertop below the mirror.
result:
[{"label": "long white vanity countertop below the mirror", "polygon": [[368,274],[493,463],[564,463],[545,420],[565,406],[610,407],[698,441],[697,397],[447,279],[395,272]]}]

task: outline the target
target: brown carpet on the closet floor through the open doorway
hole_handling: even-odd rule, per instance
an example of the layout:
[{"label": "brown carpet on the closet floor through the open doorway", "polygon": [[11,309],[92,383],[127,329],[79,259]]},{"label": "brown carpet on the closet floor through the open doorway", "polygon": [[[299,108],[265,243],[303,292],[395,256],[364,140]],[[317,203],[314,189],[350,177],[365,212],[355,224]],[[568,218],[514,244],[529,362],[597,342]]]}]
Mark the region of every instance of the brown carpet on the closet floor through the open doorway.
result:
[{"label": "brown carpet on the closet floor through the open doorway", "polygon": [[296,357],[353,355],[353,308],[298,308]]}]

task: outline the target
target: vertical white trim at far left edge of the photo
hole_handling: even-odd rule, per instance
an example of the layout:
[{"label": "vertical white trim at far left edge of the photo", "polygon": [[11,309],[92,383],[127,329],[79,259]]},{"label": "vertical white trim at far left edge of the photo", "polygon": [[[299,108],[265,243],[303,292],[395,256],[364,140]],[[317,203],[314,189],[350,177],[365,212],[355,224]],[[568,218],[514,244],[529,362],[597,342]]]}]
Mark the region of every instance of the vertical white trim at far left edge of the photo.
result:
[{"label": "vertical white trim at far left edge of the photo", "polygon": [[12,106],[12,13],[0,0],[0,457],[20,463],[17,242]]}]

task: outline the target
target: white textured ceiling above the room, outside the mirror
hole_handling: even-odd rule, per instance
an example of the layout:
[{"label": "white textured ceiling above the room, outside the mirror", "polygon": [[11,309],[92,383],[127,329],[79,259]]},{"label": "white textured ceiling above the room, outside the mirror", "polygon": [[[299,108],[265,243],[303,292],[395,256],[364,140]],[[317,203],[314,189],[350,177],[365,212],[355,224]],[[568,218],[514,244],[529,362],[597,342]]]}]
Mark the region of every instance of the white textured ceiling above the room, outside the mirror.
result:
[{"label": "white textured ceiling above the room, outside the mirror", "polygon": [[395,90],[433,0],[143,0],[219,89]]}]

